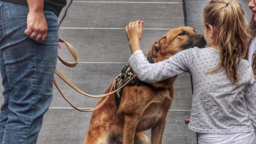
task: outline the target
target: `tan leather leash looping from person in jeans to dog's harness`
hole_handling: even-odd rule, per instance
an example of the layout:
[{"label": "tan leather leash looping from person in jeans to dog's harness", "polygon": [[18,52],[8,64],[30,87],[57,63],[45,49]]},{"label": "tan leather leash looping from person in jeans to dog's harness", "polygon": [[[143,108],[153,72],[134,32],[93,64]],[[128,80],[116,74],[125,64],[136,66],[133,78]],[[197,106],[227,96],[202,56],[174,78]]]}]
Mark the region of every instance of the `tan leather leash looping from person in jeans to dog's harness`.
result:
[{"label": "tan leather leash looping from person in jeans to dog's harness", "polygon": [[[79,60],[79,56],[77,54],[77,51],[74,49],[74,47],[72,45],[70,45],[70,43],[68,42],[65,42],[64,40],[62,40],[61,38],[59,38],[59,42],[63,42],[65,43],[65,45],[67,46],[68,50],[70,51],[71,55],[73,56],[75,62],[73,63],[69,63],[65,60],[63,60],[60,56],[58,56],[59,60],[61,61],[61,63],[63,63],[64,65],[68,66],[68,67],[75,67],[78,63],[78,60]],[[126,86],[128,83],[130,83],[134,78],[136,78],[136,74],[134,74],[134,76],[129,80],[127,81],[123,86],[121,86],[120,88],[112,91],[112,89],[115,87],[115,84],[116,84],[116,80],[119,78],[118,76],[114,79],[114,82],[112,83],[112,86],[111,86],[111,90],[109,93],[106,93],[106,94],[103,94],[103,95],[90,95],[90,94],[87,94],[85,92],[83,92],[82,90],[80,90],[79,88],[77,88],[77,86],[75,86],[69,79],[67,79],[57,68],[55,70],[55,73],[63,80],[65,81],[69,86],[71,86],[74,90],[76,90],[77,92],[85,95],[85,96],[88,96],[88,97],[94,97],[94,98],[100,98],[100,97],[104,97],[104,99],[99,103],[97,104],[93,109],[89,109],[89,110],[82,110],[82,109],[79,109],[77,108],[76,106],[74,106],[68,99],[67,97],[62,93],[60,87],[58,86],[58,83],[56,81],[56,79],[54,78],[53,79],[53,83],[54,85],[56,86],[56,88],[59,90],[59,92],[61,93],[62,97],[70,104],[70,106],[72,106],[74,109],[78,110],[78,111],[81,111],[81,112],[91,112],[91,111],[95,111],[97,109],[99,109],[100,107],[102,107],[106,101],[108,100],[109,98],[109,95],[112,95],[113,93],[117,92],[118,90],[120,90],[121,88],[123,88],[124,86]]]}]

